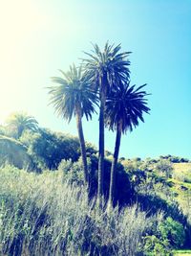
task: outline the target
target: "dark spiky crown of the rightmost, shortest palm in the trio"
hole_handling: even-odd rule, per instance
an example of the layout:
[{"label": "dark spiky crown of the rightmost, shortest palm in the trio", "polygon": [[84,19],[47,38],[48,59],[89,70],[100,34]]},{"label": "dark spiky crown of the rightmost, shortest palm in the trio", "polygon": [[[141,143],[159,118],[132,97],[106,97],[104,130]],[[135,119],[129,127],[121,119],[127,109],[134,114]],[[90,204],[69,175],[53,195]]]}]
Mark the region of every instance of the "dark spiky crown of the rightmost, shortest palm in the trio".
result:
[{"label": "dark spiky crown of the rightmost, shortest palm in the trio", "polygon": [[120,126],[121,132],[132,131],[138,126],[138,121],[144,122],[143,112],[148,113],[150,108],[147,106],[145,96],[149,95],[140,90],[146,84],[131,86],[121,83],[116,91],[112,91],[106,101],[106,126],[112,130]]}]

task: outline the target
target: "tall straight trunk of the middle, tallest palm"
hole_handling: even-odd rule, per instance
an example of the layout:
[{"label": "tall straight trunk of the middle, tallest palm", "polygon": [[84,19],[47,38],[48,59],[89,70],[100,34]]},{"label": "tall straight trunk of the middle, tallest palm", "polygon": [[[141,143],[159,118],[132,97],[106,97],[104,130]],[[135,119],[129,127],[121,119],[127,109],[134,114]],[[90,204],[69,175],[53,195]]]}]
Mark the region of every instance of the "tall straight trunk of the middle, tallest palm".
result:
[{"label": "tall straight trunk of the middle, tallest palm", "polygon": [[103,175],[104,175],[104,112],[106,95],[103,86],[100,88],[100,110],[99,110],[99,155],[98,155],[98,188],[97,200],[99,208],[102,208],[103,198]]}]

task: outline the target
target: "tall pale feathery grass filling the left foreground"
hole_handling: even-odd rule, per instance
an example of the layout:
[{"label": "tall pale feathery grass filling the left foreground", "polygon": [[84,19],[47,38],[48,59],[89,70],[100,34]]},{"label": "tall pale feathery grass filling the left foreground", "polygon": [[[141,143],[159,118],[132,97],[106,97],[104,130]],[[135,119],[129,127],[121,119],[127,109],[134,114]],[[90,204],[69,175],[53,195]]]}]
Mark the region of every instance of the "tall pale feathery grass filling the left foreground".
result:
[{"label": "tall pale feathery grass filling the left foreground", "polygon": [[0,255],[128,255],[152,225],[137,205],[99,210],[61,172],[0,170]]}]

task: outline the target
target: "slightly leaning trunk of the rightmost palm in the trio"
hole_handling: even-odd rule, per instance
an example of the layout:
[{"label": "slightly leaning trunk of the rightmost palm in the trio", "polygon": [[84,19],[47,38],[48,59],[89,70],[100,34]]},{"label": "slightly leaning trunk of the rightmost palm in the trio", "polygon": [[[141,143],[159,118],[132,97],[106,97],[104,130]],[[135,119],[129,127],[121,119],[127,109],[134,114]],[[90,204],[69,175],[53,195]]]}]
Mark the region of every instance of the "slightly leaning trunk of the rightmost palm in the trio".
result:
[{"label": "slightly leaning trunk of the rightmost palm in the trio", "polygon": [[116,192],[116,169],[117,169],[117,160],[118,160],[118,152],[120,148],[120,139],[121,139],[121,129],[117,127],[117,136],[116,136],[116,146],[112,161],[111,175],[110,175],[110,192],[109,192],[109,207],[113,206],[115,192]]}]

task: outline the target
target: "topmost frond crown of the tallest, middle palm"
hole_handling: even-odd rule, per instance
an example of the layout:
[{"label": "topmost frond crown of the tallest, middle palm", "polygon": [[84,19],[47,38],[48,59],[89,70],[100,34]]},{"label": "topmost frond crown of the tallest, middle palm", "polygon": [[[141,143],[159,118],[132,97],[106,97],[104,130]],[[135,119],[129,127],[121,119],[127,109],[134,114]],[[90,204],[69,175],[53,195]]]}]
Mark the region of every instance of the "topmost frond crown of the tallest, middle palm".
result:
[{"label": "topmost frond crown of the tallest, middle palm", "polygon": [[97,44],[93,44],[93,54],[85,54],[89,58],[83,58],[86,70],[93,79],[96,89],[104,86],[108,89],[112,86],[117,86],[120,81],[127,81],[129,79],[130,61],[128,56],[131,52],[119,53],[121,46],[116,47],[109,45],[107,42],[102,52]]}]

